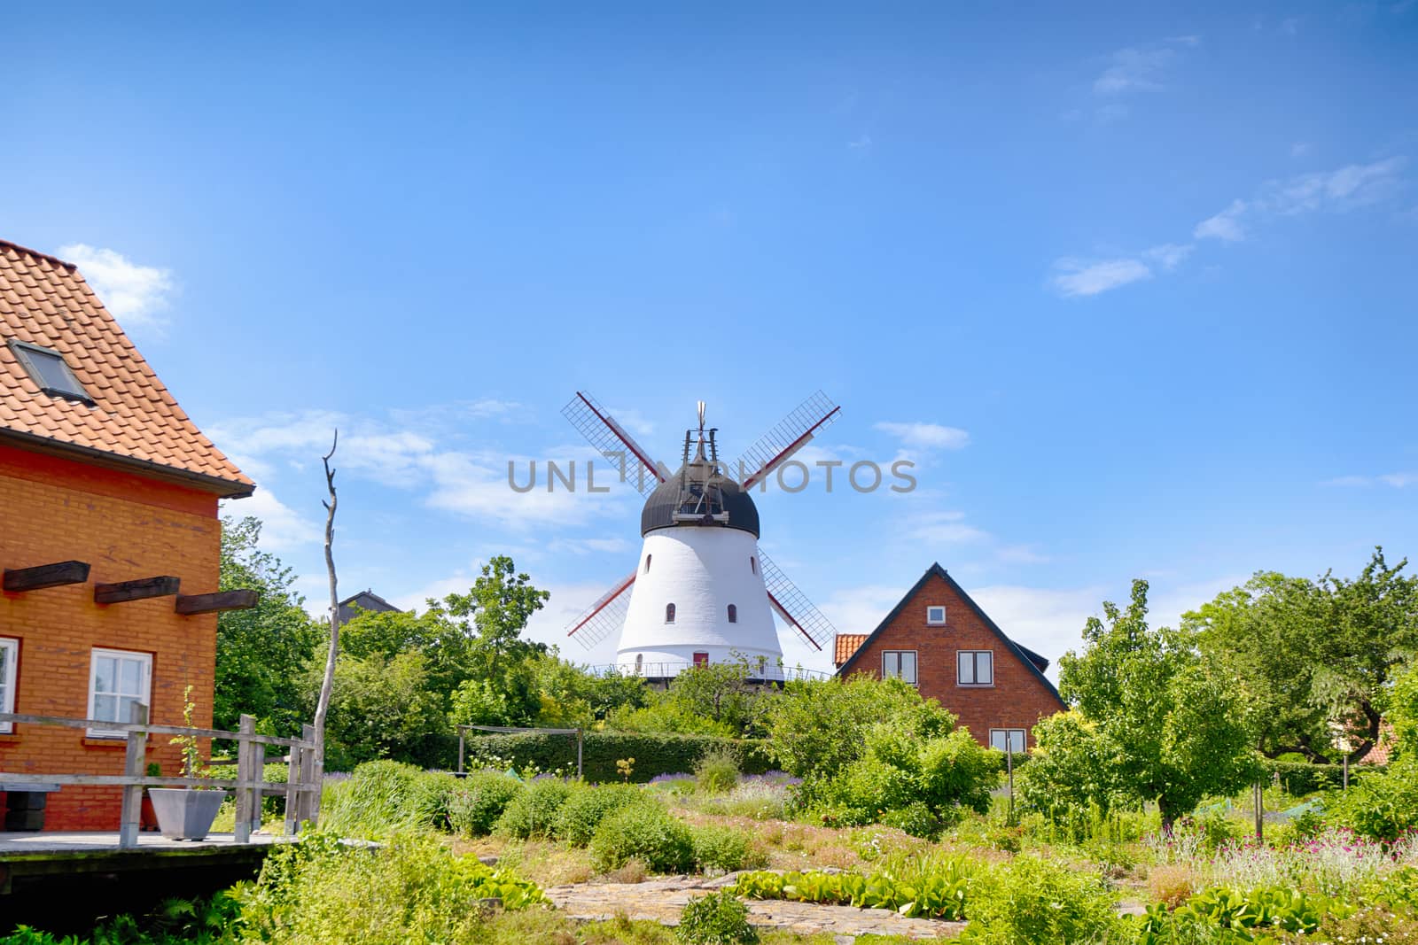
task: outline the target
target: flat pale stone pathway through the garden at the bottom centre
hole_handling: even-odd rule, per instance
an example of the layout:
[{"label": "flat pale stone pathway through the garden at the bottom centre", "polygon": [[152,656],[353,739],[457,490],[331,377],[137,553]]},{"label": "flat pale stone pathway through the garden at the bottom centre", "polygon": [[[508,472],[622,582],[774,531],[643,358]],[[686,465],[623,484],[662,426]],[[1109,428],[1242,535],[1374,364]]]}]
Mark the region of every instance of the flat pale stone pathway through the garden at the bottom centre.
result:
[{"label": "flat pale stone pathway through the garden at the bottom centre", "polygon": [[[624,912],[632,919],[661,925],[679,925],[679,910],[693,895],[733,883],[735,874],[718,878],[671,876],[644,883],[577,883],[546,890],[556,907],[571,918],[608,919]],[[777,928],[800,935],[828,932],[842,945],[858,935],[900,935],[902,938],[937,938],[959,935],[964,922],[929,918],[905,918],[891,910],[859,910],[851,905],[747,900],[749,922],[757,928]]]}]

